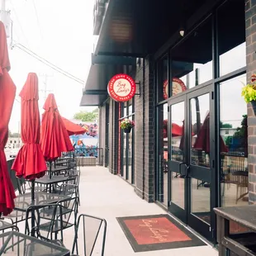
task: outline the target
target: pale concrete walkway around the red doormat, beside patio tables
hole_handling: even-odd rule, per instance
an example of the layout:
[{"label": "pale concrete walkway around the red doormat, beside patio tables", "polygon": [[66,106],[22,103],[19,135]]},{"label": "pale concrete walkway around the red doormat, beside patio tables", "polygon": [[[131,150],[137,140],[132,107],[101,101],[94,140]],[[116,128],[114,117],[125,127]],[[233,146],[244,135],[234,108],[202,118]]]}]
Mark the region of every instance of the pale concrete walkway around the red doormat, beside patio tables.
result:
[{"label": "pale concrete walkway around the red doormat, beside patio tables", "polygon": [[106,256],[218,254],[216,249],[208,245],[135,253],[116,217],[158,215],[166,214],[166,211],[154,203],[140,199],[130,184],[109,173],[107,168],[81,168],[80,198],[79,214],[86,213],[107,220]]}]

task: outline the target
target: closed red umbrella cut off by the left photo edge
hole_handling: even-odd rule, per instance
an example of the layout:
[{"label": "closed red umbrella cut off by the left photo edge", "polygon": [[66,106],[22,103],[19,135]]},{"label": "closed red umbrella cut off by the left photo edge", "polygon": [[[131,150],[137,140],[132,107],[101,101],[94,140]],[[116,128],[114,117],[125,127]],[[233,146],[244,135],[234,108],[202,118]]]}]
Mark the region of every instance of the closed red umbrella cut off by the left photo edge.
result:
[{"label": "closed red umbrella cut off by the left photo edge", "polygon": [[13,198],[16,197],[4,154],[4,147],[8,139],[8,124],[16,93],[16,86],[8,73],[10,69],[7,36],[4,25],[0,21],[0,213],[2,212],[4,216],[12,212]]}]

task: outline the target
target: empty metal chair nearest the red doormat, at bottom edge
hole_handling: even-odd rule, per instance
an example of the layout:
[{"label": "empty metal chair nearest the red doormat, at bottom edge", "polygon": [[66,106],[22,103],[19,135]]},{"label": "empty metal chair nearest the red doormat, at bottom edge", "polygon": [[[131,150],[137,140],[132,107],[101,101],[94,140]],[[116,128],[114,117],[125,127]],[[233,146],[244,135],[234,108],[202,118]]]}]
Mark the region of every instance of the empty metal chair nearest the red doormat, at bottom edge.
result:
[{"label": "empty metal chair nearest the red doormat, at bottom edge", "polygon": [[[75,226],[72,255],[91,256],[92,253],[95,252],[103,256],[105,251],[106,234],[106,220],[96,216],[81,214],[78,217],[78,223]],[[100,242],[101,237],[102,244]]]}]

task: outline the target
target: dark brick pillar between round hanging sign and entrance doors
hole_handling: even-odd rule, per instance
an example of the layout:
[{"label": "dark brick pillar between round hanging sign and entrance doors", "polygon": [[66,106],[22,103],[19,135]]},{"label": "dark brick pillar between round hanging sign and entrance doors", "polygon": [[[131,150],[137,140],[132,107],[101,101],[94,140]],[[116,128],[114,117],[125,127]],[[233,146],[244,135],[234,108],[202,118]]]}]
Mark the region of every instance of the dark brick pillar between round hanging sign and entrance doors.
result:
[{"label": "dark brick pillar between round hanging sign and entrance doors", "polygon": [[[140,97],[135,97],[135,192],[154,201],[154,67],[150,57],[137,70]],[[141,150],[141,146],[143,149]]]}]

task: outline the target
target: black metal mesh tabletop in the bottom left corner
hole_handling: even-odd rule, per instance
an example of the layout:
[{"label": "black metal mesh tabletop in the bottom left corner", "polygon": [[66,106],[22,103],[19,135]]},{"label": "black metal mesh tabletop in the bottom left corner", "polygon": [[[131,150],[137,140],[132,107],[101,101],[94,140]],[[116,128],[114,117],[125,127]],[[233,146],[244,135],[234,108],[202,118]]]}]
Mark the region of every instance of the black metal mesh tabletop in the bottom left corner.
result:
[{"label": "black metal mesh tabletop in the bottom left corner", "polygon": [[[4,242],[2,243],[2,241]],[[12,241],[14,241],[13,246]],[[3,233],[0,235],[0,255],[4,255],[6,251],[11,251],[11,255],[17,256],[70,255],[69,249],[15,231]]]}]

